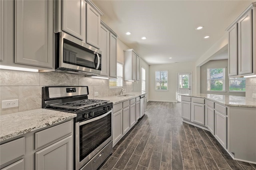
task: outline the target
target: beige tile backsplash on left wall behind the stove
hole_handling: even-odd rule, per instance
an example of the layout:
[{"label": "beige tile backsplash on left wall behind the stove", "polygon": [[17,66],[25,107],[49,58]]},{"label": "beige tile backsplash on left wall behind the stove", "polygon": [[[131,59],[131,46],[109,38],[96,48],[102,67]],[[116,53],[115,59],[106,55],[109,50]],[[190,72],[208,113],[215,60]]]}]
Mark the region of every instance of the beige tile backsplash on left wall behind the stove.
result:
[{"label": "beige tile backsplash on left wall behind the stove", "polygon": [[[124,81],[122,88],[110,89],[108,79],[58,72],[27,72],[0,69],[0,115],[42,108],[43,86],[88,86],[89,99],[112,96],[120,89],[133,92],[133,82]],[[94,96],[98,92],[98,96]],[[19,107],[2,109],[3,100],[19,99]]]}]

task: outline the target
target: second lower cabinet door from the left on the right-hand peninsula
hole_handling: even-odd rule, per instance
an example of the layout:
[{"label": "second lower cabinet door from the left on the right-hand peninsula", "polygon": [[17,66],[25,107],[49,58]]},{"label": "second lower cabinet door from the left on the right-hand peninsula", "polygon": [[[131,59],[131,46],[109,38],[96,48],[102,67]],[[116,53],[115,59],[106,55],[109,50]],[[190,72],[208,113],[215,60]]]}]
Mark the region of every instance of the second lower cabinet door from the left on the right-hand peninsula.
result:
[{"label": "second lower cabinet door from the left on the right-hand peninsula", "polygon": [[198,103],[192,103],[192,118],[194,123],[205,125],[204,119],[204,105]]}]

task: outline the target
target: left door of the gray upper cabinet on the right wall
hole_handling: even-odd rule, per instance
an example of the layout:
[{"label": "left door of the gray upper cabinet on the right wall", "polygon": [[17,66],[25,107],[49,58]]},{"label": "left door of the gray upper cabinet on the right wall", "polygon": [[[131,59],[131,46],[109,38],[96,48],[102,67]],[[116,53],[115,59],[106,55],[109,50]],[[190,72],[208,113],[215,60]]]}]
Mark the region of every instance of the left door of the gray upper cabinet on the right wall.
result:
[{"label": "left door of the gray upper cabinet on the right wall", "polygon": [[237,75],[237,24],[228,33],[228,76]]}]

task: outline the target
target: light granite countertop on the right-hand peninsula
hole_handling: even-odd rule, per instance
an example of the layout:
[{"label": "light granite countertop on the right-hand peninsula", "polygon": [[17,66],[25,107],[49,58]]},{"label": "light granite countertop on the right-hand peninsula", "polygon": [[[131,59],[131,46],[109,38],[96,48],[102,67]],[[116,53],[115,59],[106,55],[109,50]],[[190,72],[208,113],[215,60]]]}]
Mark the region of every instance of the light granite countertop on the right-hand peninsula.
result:
[{"label": "light granite countertop on the right-hand peninsula", "polygon": [[192,94],[192,95],[182,94],[181,96],[205,98],[225,106],[256,108],[256,100],[247,99],[246,97],[242,97],[242,96],[227,96],[227,95],[214,95],[214,94]]}]

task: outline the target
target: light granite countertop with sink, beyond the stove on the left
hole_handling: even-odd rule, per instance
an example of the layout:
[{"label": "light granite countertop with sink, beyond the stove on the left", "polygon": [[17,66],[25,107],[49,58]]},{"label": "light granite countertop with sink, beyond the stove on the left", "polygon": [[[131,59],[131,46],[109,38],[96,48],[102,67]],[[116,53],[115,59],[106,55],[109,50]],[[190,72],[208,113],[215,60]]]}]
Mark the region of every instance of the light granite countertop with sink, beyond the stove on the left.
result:
[{"label": "light granite countertop with sink, beyond the stove on the left", "polygon": [[142,93],[142,92],[132,92],[132,93],[124,93],[124,95],[129,95],[129,96],[108,96],[108,97],[101,97],[99,99],[101,100],[109,100],[113,102],[113,105],[116,105],[118,103],[122,103],[124,101],[139,97],[140,95],[146,95],[147,93]]}]

